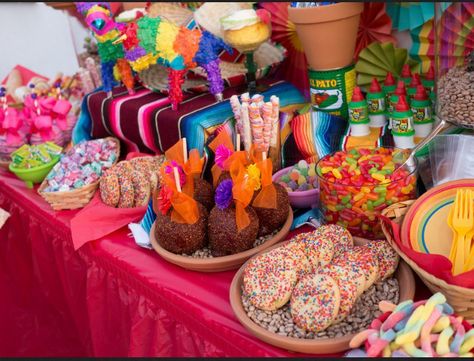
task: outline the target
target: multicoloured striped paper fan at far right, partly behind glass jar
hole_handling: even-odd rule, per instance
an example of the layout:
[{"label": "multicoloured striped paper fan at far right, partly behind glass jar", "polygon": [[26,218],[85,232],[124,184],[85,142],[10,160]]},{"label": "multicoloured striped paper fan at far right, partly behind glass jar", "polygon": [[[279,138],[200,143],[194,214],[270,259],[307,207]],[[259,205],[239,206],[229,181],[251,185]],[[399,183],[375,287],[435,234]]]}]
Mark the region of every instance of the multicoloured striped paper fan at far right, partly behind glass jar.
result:
[{"label": "multicoloured striped paper fan at far right, partly behind glass jar", "polygon": [[[439,27],[440,48],[438,52],[441,72],[455,65],[462,65],[465,57],[474,50],[474,4],[454,3],[445,8]],[[434,21],[427,21],[411,32],[413,45],[410,56],[428,71],[435,58]]]}]

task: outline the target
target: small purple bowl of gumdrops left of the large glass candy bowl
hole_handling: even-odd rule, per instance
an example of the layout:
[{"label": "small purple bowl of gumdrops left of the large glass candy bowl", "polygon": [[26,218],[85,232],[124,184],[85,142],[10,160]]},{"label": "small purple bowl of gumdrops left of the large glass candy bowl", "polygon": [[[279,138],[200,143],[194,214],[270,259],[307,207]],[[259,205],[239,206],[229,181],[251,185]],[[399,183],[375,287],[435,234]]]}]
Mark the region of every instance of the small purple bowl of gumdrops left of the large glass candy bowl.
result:
[{"label": "small purple bowl of gumdrops left of the large glass candy bowl", "polygon": [[297,164],[276,172],[273,181],[285,187],[292,207],[316,207],[319,190],[315,163],[308,164],[305,160],[300,160]]}]

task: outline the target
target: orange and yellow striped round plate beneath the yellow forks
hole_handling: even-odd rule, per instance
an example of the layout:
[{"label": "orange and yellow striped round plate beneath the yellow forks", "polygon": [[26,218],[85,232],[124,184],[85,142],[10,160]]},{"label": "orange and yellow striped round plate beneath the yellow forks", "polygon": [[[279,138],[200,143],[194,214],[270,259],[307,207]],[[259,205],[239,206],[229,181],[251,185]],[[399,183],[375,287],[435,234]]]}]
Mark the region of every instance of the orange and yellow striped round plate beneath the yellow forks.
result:
[{"label": "orange and yellow striped round plate beneath the yellow forks", "polygon": [[474,189],[474,179],[447,182],[413,203],[402,225],[403,244],[421,253],[449,255],[453,233],[447,218],[458,188]]}]

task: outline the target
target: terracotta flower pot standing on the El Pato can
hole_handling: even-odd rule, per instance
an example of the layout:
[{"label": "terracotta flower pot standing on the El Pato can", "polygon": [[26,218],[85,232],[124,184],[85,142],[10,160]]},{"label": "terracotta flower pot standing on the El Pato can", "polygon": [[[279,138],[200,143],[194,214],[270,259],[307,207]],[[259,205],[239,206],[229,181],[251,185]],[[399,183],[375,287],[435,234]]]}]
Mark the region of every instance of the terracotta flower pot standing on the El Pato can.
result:
[{"label": "terracotta flower pot standing on the El Pato can", "polygon": [[343,68],[352,62],[363,3],[288,8],[288,17],[314,70]]}]

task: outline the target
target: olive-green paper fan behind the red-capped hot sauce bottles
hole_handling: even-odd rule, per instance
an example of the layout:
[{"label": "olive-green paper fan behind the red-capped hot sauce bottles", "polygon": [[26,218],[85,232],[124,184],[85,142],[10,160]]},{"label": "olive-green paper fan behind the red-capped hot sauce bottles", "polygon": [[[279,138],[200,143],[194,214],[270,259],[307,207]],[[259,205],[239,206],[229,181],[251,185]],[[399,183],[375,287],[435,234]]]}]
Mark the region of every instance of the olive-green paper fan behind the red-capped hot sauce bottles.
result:
[{"label": "olive-green paper fan behind the red-capped hot sauce bottles", "polygon": [[413,71],[418,71],[418,62],[409,59],[407,49],[396,48],[392,43],[372,43],[359,53],[355,65],[357,85],[369,86],[373,77],[383,81],[387,72],[400,77],[405,63],[410,64]]}]

